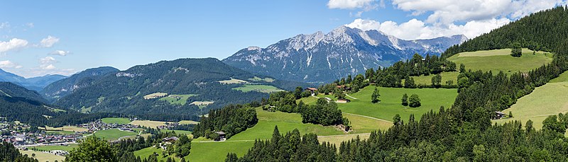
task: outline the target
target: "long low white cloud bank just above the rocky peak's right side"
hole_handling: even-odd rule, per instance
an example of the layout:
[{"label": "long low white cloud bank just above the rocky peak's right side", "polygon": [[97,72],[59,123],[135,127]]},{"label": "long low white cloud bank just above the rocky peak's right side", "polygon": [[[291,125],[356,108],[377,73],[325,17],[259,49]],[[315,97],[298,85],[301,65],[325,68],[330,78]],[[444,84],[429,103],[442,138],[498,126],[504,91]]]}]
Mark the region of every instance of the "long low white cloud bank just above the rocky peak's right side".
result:
[{"label": "long low white cloud bank just above the rocky peak's right side", "polygon": [[394,35],[403,40],[429,39],[434,37],[452,36],[464,34],[466,37],[473,38],[483,33],[488,33],[494,28],[501,27],[510,23],[508,18],[490,19],[486,21],[469,21],[464,25],[450,24],[447,26],[427,25],[417,19],[412,19],[405,23],[395,23],[393,21],[378,21],[356,19],[352,23],[346,24],[349,28],[359,28],[361,30],[380,30],[388,35]]}]

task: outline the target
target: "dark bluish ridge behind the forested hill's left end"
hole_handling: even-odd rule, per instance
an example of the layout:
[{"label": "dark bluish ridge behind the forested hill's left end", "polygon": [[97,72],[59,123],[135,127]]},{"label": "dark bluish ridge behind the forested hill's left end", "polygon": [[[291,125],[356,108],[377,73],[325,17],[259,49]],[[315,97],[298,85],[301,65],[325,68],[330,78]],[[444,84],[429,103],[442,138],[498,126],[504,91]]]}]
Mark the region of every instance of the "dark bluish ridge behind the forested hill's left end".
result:
[{"label": "dark bluish ridge behind the forested hill's left end", "polygon": [[86,69],[72,76],[55,81],[40,91],[41,95],[48,100],[54,100],[67,96],[70,93],[91,86],[93,83],[102,78],[102,76],[119,71],[114,67],[102,66],[92,69]]}]

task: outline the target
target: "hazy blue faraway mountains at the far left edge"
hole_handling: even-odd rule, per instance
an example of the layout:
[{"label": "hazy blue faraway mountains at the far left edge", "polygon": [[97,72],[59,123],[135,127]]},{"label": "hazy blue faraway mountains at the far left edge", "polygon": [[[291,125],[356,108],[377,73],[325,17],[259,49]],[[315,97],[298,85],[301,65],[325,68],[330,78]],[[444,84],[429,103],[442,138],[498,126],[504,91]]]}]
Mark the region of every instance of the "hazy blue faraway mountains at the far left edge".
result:
[{"label": "hazy blue faraway mountains at the far left edge", "polygon": [[16,83],[19,86],[23,86],[33,91],[41,91],[45,86],[48,86],[50,83],[65,78],[67,78],[67,76],[45,75],[45,76],[37,76],[26,79],[23,76],[18,76],[16,74],[12,74],[0,69],[0,81]]}]

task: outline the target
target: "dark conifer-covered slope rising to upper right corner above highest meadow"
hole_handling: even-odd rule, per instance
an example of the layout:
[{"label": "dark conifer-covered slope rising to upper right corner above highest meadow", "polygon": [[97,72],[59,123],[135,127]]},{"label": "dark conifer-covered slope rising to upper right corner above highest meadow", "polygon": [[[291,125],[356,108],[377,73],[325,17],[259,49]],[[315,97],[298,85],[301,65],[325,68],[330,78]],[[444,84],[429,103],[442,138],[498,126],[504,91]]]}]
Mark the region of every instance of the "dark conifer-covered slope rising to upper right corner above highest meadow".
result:
[{"label": "dark conifer-covered slope rising to upper right corner above highest meadow", "polygon": [[515,42],[530,50],[566,54],[568,51],[568,12],[566,7],[547,9],[492,30],[491,33],[449,47],[442,57],[459,52],[496,50],[513,47]]}]

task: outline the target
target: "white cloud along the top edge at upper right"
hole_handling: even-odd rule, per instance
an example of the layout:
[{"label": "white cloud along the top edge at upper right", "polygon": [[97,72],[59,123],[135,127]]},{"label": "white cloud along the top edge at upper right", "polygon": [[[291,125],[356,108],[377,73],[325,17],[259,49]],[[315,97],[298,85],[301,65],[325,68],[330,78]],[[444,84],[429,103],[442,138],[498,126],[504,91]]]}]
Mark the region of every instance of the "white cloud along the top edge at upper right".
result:
[{"label": "white cloud along the top edge at upper right", "polygon": [[393,0],[393,5],[413,15],[432,13],[426,23],[451,25],[454,22],[516,19],[536,11],[567,4],[566,0]]}]

